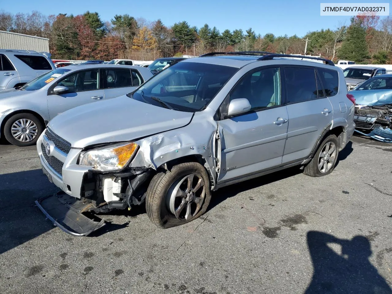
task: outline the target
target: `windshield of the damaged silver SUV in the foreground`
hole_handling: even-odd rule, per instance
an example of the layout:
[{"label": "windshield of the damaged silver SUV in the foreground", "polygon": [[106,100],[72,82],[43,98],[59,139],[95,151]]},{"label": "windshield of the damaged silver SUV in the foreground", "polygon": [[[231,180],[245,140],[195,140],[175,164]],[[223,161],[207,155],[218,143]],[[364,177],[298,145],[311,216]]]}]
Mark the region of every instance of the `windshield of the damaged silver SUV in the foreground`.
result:
[{"label": "windshield of the damaged silver SUV in the foreground", "polygon": [[237,70],[223,65],[179,62],[128,96],[174,110],[201,111]]}]

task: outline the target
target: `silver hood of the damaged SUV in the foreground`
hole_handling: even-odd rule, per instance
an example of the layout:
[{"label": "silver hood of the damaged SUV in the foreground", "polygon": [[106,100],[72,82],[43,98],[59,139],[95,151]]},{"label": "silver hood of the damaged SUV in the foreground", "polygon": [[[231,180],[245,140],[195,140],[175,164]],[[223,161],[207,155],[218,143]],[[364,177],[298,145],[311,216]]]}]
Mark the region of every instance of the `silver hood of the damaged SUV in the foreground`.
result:
[{"label": "silver hood of the damaged SUV in the foreground", "polygon": [[193,113],[175,111],[128,96],[93,102],[64,111],[48,127],[72,147],[129,141],[191,122]]}]

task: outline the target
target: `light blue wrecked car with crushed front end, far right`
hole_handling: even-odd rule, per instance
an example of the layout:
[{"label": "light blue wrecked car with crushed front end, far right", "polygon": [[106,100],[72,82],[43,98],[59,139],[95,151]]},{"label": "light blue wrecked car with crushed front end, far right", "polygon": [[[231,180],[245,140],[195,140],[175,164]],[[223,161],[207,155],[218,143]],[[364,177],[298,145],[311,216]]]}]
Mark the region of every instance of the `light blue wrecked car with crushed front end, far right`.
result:
[{"label": "light blue wrecked car with crushed front end, far right", "polygon": [[350,91],[356,99],[355,131],[374,140],[392,142],[392,74],[370,78]]}]

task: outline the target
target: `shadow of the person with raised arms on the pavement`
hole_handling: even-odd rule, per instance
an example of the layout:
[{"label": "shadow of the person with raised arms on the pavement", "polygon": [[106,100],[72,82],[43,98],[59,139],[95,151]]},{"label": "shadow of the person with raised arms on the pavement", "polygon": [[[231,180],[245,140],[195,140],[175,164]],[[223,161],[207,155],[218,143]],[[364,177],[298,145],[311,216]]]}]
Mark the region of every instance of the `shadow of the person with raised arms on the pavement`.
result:
[{"label": "shadow of the person with raised arms on the pavement", "polygon": [[370,263],[372,250],[365,236],[339,239],[318,231],[307,233],[314,274],[305,294],[392,294],[387,281]]}]

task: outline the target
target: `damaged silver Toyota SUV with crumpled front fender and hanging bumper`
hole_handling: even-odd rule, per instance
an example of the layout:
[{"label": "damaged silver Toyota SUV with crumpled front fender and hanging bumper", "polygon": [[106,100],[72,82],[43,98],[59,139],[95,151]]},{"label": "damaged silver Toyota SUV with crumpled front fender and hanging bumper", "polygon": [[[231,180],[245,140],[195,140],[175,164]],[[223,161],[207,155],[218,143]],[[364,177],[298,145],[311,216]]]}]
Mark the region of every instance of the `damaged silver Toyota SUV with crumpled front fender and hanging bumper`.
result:
[{"label": "damaged silver Toyota SUV with crumpled front fender and hanging bumper", "polygon": [[287,57],[209,53],[56,116],[37,151],[64,192],[36,204],[75,235],[104,224],[84,212],[136,205],[167,228],[201,216],[221,187],[295,165],[329,174],[354,132],[354,97],[330,60]]}]

